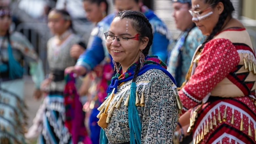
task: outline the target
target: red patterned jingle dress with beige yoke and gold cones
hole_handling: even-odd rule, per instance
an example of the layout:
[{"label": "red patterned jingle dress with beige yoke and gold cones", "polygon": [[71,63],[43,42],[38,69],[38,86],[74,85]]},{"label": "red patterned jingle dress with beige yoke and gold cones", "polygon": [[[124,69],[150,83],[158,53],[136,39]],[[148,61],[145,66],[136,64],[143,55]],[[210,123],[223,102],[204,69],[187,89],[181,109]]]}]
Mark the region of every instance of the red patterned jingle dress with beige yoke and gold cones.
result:
[{"label": "red patterned jingle dress with beige yoke and gold cones", "polygon": [[197,50],[179,91],[191,111],[193,143],[256,143],[256,60],[244,28],[218,33]]}]

